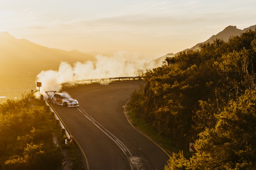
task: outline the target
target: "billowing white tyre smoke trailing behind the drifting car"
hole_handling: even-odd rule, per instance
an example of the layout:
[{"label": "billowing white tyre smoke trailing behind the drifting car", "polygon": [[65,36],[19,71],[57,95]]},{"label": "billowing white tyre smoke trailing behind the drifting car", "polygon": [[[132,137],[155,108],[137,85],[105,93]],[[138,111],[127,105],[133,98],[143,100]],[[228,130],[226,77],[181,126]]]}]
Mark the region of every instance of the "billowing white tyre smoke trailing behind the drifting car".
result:
[{"label": "billowing white tyre smoke trailing behind the drifting car", "polygon": [[[42,82],[40,93],[46,97],[45,91],[56,90],[60,92],[60,84],[68,81],[105,77],[133,77],[139,75],[138,69],[143,71],[147,69],[145,64],[139,63],[145,62],[145,59],[139,59],[139,56],[123,51],[111,57],[97,55],[95,59],[95,61],[84,63],[75,62],[73,66],[68,62],[61,62],[58,70],[41,71],[36,79],[36,82]],[[152,65],[149,66],[149,68],[153,67]],[[40,94],[36,93],[36,96],[39,97]]]}]

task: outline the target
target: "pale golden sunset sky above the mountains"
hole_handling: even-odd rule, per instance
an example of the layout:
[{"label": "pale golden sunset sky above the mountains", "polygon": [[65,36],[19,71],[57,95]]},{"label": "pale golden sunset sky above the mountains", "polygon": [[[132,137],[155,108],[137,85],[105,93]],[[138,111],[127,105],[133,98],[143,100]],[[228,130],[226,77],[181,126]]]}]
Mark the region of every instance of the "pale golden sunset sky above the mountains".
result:
[{"label": "pale golden sunset sky above the mountains", "polygon": [[255,9],[255,0],[3,0],[0,32],[62,50],[160,57],[191,48],[229,25],[256,25]]}]

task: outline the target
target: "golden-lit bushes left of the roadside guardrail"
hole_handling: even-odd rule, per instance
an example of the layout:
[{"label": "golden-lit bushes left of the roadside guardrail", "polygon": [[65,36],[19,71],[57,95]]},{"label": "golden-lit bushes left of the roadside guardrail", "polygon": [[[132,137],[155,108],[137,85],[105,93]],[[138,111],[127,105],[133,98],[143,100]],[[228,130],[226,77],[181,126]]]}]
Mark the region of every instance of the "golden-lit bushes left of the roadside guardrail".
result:
[{"label": "golden-lit bushes left of the roadside guardrail", "polygon": [[31,97],[24,93],[21,100],[0,105],[0,169],[60,167],[61,151],[52,144],[48,114]]}]

